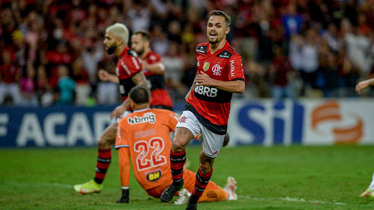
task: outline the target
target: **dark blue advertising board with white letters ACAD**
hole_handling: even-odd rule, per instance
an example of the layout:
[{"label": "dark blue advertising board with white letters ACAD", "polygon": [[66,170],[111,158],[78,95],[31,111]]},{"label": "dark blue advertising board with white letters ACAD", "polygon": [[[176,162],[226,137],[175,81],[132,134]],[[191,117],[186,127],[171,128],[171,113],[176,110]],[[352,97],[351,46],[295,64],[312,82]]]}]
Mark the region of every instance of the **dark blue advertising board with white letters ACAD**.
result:
[{"label": "dark blue advertising board with white letters ACAD", "polygon": [[115,106],[2,107],[0,147],[94,146]]}]

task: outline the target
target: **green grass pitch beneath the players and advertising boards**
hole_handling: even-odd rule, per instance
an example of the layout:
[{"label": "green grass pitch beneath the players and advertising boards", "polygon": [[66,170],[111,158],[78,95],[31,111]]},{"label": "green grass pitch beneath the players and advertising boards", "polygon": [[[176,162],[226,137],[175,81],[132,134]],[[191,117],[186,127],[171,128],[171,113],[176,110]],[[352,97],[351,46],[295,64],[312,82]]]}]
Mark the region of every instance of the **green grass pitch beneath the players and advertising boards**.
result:
[{"label": "green grass pitch beneath the players and advertising boards", "polygon": [[[237,201],[198,204],[200,210],[365,210],[374,199],[360,198],[374,172],[374,147],[236,147],[223,148],[212,181],[237,181]],[[187,147],[196,171],[199,147]],[[118,155],[104,190],[79,195],[72,186],[92,179],[95,148],[0,150],[0,209],[40,210],[184,210],[147,196],[131,173],[130,204],[120,198]]]}]

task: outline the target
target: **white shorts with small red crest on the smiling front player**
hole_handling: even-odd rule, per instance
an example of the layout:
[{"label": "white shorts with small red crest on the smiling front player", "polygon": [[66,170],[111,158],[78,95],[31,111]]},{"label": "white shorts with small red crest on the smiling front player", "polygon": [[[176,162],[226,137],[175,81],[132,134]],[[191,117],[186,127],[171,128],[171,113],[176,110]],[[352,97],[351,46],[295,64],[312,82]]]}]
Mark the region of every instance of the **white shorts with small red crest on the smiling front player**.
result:
[{"label": "white shorts with small red crest on the smiling front player", "polygon": [[176,128],[184,127],[191,131],[194,137],[199,133],[198,140],[202,143],[202,152],[210,158],[215,158],[221,151],[225,135],[218,135],[205,128],[190,111],[183,111]]}]

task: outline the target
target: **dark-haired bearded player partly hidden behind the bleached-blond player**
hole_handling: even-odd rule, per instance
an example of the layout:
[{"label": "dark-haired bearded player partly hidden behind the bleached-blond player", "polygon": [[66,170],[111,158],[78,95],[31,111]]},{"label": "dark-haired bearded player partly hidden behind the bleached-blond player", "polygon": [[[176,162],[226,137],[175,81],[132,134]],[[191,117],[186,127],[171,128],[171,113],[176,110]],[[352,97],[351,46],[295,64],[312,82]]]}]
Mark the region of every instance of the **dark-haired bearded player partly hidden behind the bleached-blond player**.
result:
[{"label": "dark-haired bearded player partly hidden behind the bleached-blond player", "polygon": [[173,101],[166,91],[165,66],[159,54],[150,48],[150,36],[145,30],[137,30],[131,36],[131,48],[142,59],[143,72],[150,83],[151,105],[155,108],[173,110]]}]

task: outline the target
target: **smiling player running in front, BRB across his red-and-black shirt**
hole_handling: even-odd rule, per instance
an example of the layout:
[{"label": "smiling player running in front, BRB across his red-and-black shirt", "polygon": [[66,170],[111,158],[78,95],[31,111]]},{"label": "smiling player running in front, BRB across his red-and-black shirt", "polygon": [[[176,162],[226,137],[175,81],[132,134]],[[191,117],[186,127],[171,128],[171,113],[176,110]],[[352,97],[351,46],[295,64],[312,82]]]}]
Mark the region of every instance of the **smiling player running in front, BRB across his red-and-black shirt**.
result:
[{"label": "smiling player running in front, BRB across his red-and-black shirt", "polygon": [[187,95],[186,107],[176,126],[170,151],[173,183],[160,199],[169,202],[183,188],[185,147],[201,132],[199,169],[187,210],[197,209],[197,201],[213,173],[214,159],[220,152],[227,132],[232,93],[243,93],[245,88],[241,57],[226,41],[226,34],[230,31],[230,17],[217,10],[210,11],[207,17],[208,42],[196,47],[197,75]]}]

